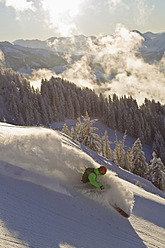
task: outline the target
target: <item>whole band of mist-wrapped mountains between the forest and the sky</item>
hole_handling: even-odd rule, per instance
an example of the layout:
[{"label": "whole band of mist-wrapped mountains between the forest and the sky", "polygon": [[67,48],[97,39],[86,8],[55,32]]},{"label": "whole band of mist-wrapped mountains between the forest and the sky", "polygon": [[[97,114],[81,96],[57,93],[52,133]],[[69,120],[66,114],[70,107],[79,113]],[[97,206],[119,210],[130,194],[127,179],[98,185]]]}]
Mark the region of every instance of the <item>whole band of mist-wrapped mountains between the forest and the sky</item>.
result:
[{"label": "whole band of mist-wrapped mountains between the forest and the sky", "polygon": [[0,42],[0,65],[23,73],[40,87],[53,76],[97,94],[132,96],[164,104],[165,33],[140,33],[119,25],[113,35],[51,37]]}]

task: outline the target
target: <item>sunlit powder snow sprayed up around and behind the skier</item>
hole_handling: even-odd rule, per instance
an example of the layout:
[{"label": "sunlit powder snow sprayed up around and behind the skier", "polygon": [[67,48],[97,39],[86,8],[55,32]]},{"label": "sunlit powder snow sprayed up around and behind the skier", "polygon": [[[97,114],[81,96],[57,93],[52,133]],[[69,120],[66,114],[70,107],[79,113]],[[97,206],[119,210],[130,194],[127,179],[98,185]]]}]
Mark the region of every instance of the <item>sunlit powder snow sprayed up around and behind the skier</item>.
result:
[{"label": "sunlit powder snow sprayed up around and behind the skier", "polygon": [[[0,159],[1,173],[73,196],[88,190],[88,186],[80,183],[84,168],[100,166],[82,151],[79,143],[58,131],[3,123],[0,124]],[[101,179],[106,190],[86,197],[108,208],[116,204],[130,215],[133,193],[112,173],[110,164],[107,168],[108,173]]]}]

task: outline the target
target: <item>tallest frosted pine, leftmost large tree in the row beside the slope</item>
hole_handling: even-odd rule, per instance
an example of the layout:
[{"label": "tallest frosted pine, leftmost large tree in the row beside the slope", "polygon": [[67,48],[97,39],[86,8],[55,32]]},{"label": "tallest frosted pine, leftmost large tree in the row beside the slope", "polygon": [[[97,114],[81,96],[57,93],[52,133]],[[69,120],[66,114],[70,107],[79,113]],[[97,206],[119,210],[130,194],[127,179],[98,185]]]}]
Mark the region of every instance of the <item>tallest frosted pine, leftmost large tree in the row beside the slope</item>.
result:
[{"label": "tallest frosted pine, leftmost large tree in the row beside the slope", "polygon": [[98,134],[93,131],[97,130],[96,127],[92,125],[97,121],[97,119],[90,120],[88,113],[86,112],[85,116],[82,116],[84,122],[81,122],[78,118],[76,123],[76,140],[80,143],[88,146],[91,150],[95,152],[100,151],[100,137]]}]

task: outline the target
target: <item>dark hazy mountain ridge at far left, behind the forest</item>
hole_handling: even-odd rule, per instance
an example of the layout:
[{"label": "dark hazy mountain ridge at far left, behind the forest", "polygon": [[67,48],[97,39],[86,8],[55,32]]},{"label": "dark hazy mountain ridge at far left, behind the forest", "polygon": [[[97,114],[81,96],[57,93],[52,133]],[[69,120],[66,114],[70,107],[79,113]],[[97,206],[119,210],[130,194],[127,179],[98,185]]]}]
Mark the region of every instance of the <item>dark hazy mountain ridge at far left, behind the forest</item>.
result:
[{"label": "dark hazy mountain ridge at far left, behind the forest", "polygon": [[53,68],[67,66],[66,59],[55,51],[41,48],[29,48],[13,45],[9,42],[0,42],[0,51],[4,54],[4,67],[15,71],[31,74],[32,70],[39,68]]}]

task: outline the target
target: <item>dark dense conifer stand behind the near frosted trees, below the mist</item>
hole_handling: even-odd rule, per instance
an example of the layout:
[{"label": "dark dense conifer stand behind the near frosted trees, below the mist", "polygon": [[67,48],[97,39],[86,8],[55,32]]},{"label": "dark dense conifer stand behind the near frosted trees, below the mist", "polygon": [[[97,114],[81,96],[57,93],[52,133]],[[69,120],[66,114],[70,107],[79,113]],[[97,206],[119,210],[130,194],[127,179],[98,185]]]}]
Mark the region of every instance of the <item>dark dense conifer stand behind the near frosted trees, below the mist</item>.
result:
[{"label": "dark dense conifer stand behind the near frosted trees, below the mist", "polygon": [[165,164],[165,105],[145,99],[138,106],[131,96],[104,97],[62,78],[41,81],[34,89],[23,75],[0,66],[0,121],[18,125],[45,125],[65,118],[101,118],[109,128],[139,138],[153,147]]}]

